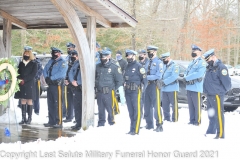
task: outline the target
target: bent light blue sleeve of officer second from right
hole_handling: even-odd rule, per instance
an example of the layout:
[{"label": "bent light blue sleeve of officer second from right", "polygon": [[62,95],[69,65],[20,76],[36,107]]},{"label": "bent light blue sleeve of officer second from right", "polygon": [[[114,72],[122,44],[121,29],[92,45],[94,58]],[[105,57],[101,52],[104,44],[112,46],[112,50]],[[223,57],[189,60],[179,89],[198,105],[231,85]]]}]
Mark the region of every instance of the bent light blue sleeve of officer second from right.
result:
[{"label": "bent light blue sleeve of officer second from right", "polygon": [[196,71],[189,73],[185,78],[187,81],[194,80],[197,78],[201,78],[204,76],[205,71],[206,71],[206,62],[204,61],[199,61],[198,63],[198,68]]}]

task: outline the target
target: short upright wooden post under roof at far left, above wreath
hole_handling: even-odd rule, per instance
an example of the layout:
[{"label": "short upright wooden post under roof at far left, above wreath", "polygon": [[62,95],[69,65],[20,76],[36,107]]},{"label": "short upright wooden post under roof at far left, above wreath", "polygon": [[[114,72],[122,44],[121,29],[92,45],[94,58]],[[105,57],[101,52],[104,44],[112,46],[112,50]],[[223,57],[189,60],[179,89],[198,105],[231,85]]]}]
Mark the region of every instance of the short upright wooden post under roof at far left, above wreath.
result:
[{"label": "short upright wooden post under roof at far left, above wreath", "polygon": [[6,51],[6,57],[11,57],[11,35],[12,35],[12,23],[9,19],[3,18],[3,45]]}]

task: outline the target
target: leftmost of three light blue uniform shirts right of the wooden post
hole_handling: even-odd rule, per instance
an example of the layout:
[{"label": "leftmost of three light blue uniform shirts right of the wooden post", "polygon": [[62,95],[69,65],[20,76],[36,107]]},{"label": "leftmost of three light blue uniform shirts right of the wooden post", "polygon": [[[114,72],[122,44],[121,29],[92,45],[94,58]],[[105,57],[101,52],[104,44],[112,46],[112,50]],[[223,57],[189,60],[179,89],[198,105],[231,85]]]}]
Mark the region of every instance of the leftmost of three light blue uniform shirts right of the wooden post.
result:
[{"label": "leftmost of three light blue uniform shirts right of the wooden post", "polygon": [[[149,60],[148,65],[151,63],[151,60]],[[147,73],[148,73],[148,66],[147,68]],[[151,67],[150,67],[150,75],[147,75],[147,80],[148,81],[153,81],[153,80],[160,80],[162,78],[162,73],[163,73],[163,63],[162,61],[158,58],[155,57],[152,59]]]}]

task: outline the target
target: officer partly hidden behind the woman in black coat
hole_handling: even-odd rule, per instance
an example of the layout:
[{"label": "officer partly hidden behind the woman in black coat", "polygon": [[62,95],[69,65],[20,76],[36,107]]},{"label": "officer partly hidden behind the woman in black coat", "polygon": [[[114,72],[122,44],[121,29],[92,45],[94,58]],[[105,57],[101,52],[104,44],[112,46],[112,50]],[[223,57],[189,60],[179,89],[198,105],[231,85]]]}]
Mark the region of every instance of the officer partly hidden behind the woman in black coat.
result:
[{"label": "officer partly hidden behind the woman in black coat", "polygon": [[37,63],[37,74],[35,76],[36,99],[33,101],[33,104],[34,104],[35,114],[39,115],[39,109],[40,109],[39,98],[40,98],[40,87],[41,87],[40,77],[43,74],[43,67],[42,67],[42,63],[40,62],[40,60],[36,57],[37,52],[33,52],[33,55],[35,57],[34,62]]}]

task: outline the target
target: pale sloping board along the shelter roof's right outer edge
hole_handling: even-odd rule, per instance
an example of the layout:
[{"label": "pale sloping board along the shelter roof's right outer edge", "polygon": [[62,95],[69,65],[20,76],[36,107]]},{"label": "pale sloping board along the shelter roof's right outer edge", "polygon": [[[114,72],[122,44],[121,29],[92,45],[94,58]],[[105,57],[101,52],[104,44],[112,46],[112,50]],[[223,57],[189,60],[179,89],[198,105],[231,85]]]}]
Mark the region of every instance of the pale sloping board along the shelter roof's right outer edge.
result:
[{"label": "pale sloping board along the shelter roof's right outer edge", "polygon": [[132,27],[136,27],[137,20],[132,18],[129,14],[124,12],[122,9],[120,9],[118,6],[116,6],[113,2],[109,0],[96,0],[98,3],[103,5],[107,10],[111,11],[113,14],[121,18],[123,21],[125,21],[127,24],[129,24]]}]

